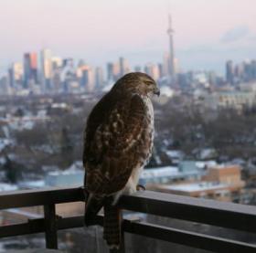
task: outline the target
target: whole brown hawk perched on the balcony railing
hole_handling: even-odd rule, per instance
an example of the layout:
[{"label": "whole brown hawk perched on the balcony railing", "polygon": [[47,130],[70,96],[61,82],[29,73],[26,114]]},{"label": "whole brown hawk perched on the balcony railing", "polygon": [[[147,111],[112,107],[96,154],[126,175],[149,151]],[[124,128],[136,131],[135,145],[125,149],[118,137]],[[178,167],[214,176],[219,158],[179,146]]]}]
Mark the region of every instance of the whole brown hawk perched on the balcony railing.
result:
[{"label": "whole brown hawk perched on the balcony railing", "polygon": [[154,79],[140,72],[126,74],[87,120],[83,166],[89,197],[84,221],[89,226],[104,206],[104,238],[110,248],[119,248],[121,241],[116,203],[123,193],[136,192],[139,175],[152,153],[154,94],[160,94]]}]

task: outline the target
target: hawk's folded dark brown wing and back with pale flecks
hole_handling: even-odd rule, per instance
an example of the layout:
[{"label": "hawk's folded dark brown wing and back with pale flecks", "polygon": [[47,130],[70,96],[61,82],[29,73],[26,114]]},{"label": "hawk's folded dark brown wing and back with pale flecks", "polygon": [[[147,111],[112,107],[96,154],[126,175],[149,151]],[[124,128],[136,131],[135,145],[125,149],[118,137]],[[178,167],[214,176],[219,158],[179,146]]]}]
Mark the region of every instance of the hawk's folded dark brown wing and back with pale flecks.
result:
[{"label": "hawk's folded dark brown wing and back with pale flecks", "polygon": [[138,163],[145,125],[144,100],[138,95],[117,100],[109,93],[96,105],[87,121],[83,153],[90,192],[108,195],[123,189]]}]

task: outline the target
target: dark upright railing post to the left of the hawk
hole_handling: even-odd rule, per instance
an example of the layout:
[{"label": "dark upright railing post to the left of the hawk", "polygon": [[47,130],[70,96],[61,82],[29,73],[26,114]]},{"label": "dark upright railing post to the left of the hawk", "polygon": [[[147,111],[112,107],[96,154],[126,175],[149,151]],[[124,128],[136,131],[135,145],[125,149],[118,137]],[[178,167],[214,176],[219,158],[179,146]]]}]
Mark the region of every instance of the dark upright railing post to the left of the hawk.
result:
[{"label": "dark upright railing post to the left of the hawk", "polygon": [[58,249],[57,222],[55,205],[44,206],[46,248]]}]

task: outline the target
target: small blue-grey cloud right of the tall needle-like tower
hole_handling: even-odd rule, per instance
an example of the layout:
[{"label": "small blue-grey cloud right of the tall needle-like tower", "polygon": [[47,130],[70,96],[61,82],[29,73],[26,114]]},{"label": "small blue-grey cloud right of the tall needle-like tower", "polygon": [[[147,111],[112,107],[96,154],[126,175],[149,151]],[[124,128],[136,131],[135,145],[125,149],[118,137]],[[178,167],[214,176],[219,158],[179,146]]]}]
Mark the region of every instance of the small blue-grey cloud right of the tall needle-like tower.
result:
[{"label": "small blue-grey cloud right of the tall needle-like tower", "polygon": [[220,42],[231,43],[238,41],[250,34],[250,29],[248,26],[236,26],[229,29],[221,38]]}]

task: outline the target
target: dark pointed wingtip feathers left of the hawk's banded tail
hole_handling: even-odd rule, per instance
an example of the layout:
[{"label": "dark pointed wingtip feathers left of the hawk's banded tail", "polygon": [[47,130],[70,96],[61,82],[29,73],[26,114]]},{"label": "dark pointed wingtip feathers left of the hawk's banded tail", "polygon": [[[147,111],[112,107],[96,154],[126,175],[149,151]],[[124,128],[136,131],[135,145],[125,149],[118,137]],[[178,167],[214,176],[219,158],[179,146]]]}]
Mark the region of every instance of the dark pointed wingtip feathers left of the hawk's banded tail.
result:
[{"label": "dark pointed wingtip feathers left of the hawk's banded tail", "polygon": [[85,213],[84,213],[84,224],[85,226],[93,225],[92,221],[94,220],[95,216],[101,210],[103,206],[104,197],[101,195],[92,195],[90,194],[88,197],[88,201],[85,206]]}]

